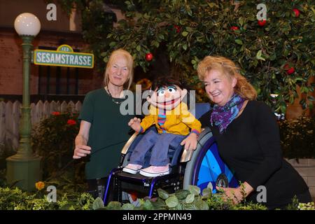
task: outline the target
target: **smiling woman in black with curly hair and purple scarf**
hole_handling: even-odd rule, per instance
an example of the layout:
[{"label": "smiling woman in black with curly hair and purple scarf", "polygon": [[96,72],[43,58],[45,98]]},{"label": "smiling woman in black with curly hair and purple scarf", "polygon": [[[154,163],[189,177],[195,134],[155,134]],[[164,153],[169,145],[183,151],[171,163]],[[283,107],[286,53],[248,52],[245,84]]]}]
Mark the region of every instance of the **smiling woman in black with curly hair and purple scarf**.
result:
[{"label": "smiling woman in black with curly hair and purple scarf", "polygon": [[211,128],[221,158],[242,183],[239,188],[220,188],[226,197],[235,203],[246,197],[268,209],[286,208],[295,195],[300,202],[311,202],[304,179],[282,158],[274,113],[264,102],[255,101],[254,87],[235,63],[207,56],[197,72],[214,104],[200,122]]}]

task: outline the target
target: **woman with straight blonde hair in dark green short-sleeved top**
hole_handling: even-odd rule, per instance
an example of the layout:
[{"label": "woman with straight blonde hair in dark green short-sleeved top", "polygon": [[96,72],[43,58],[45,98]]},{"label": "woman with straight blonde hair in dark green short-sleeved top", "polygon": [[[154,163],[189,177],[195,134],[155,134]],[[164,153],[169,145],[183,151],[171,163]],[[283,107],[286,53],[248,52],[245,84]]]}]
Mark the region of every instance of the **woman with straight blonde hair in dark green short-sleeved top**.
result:
[{"label": "woman with straight blonde hair in dark green short-sleeved top", "polygon": [[80,130],[76,136],[73,159],[84,158],[85,177],[89,192],[99,195],[111,169],[119,165],[120,150],[130,138],[127,125],[133,115],[122,115],[120,104],[125,100],[133,78],[134,60],[129,52],[115,50],[109,57],[104,73],[104,86],[88,92],[80,111]]}]

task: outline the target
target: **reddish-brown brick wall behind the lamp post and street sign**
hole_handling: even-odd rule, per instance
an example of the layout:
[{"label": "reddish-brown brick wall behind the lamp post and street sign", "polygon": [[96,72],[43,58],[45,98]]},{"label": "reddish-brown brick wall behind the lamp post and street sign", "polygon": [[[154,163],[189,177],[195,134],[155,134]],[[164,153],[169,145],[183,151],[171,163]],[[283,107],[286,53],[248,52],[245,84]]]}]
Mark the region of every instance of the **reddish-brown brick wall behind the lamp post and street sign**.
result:
[{"label": "reddish-brown brick wall behind the lamp post and street sign", "polygon": [[[57,48],[62,43],[87,52],[87,44],[78,33],[41,31],[33,41],[38,46]],[[0,94],[22,94],[22,40],[13,28],[0,29]],[[97,69],[82,69],[79,74],[78,94],[86,94],[102,86],[103,74]],[[31,64],[31,94],[38,94],[38,66]]]}]

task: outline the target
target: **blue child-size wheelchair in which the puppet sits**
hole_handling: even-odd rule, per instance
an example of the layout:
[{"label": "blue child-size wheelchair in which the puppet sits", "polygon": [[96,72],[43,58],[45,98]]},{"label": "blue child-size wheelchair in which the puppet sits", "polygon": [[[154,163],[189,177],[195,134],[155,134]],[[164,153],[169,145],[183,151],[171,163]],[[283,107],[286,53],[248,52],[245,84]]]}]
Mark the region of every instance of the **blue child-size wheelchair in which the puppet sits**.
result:
[{"label": "blue child-size wheelchair in which the puppet sits", "polygon": [[[210,110],[210,104],[197,103],[195,117],[198,119]],[[149,130],[155,130],[153,125]],[[186,151],[180,142],[172,142],[169,146],[170,172],[164,176],[146,177],[141,174],[128,174],[123,172],[123,167],[128,164],[130,155],[144,134],[134,133],[127,141],[121,151],[120,166],[111,170],[107,185],[104,189],[104,204],[108,203],[109,188],[113,186],[111,194],[114,200],[123,202],[123,193],[127,193],[130,202],[130,195],[141,197],[158,197],[158,188],[174,193],[179,189],[188,189],[188,186],[198,186],[202,192],[209,183],[212,185],[212,192],[216,193],[216,186],[235,188],[238,186],[237,179],[233,172],[221,160],[218,154],[216,140],[209,127],[202,129],[197,139],[195,151]],[[146,154],[144,168],[148,167],[150,151]],[[125,200],[128,200],[125,197]]]}]

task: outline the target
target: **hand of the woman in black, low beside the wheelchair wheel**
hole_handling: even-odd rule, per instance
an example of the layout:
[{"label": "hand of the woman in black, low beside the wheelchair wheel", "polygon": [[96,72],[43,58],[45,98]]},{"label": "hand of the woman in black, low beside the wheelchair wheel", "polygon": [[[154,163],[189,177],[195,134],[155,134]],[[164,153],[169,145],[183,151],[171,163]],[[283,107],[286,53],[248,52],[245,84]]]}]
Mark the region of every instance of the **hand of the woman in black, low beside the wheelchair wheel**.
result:
[{"label": "hand of the woman in black, low beside the wheelchair wheel", "polygon": [[234,204],[239,204],[253,191],[253,188],[247,182],[244,182],[238,188],[220,188],[217,186],[216,190],[223,190],[226,199],[232,200]]}]

